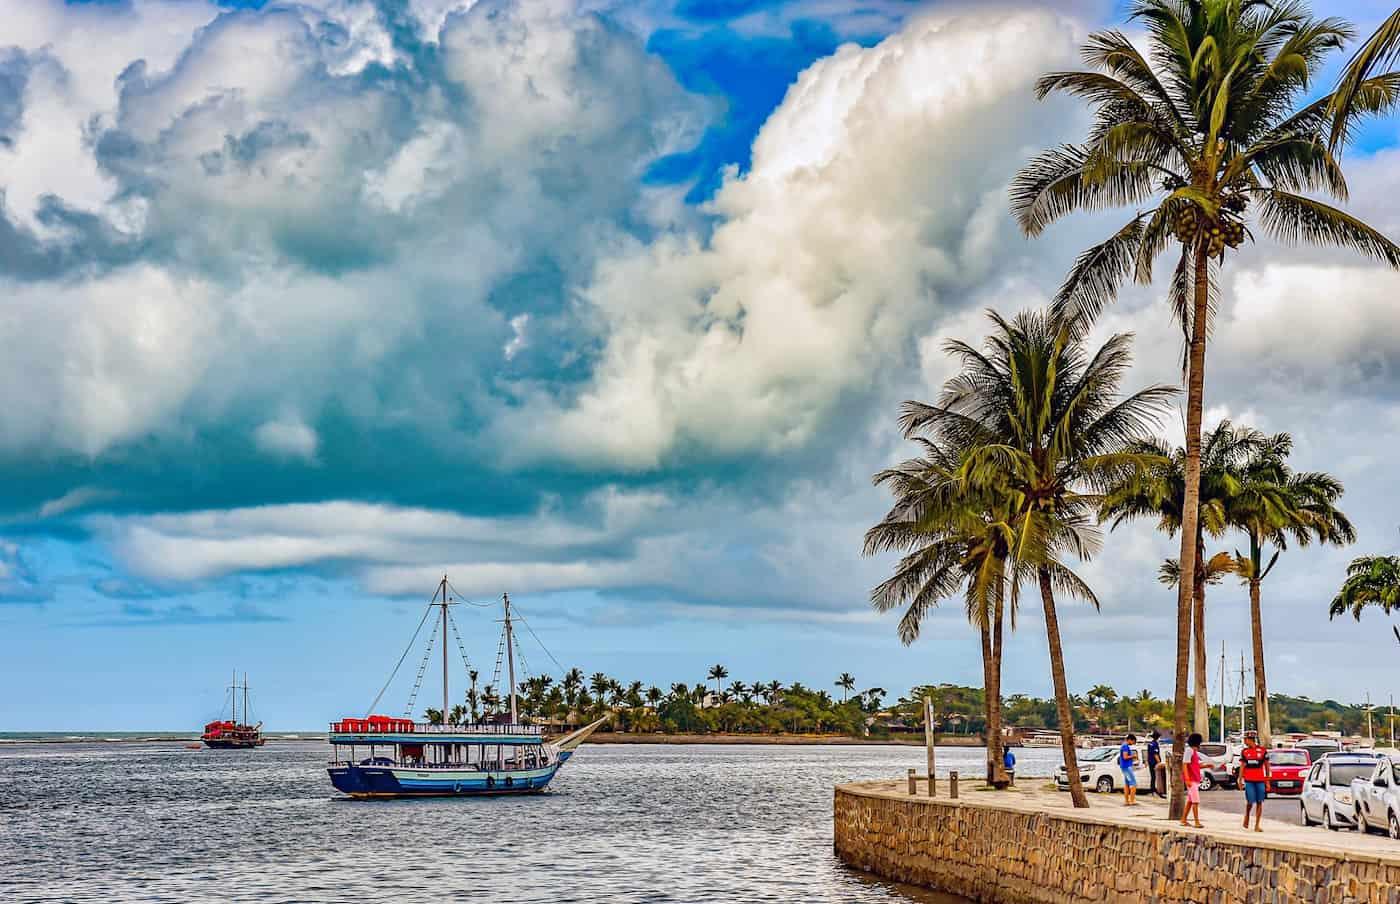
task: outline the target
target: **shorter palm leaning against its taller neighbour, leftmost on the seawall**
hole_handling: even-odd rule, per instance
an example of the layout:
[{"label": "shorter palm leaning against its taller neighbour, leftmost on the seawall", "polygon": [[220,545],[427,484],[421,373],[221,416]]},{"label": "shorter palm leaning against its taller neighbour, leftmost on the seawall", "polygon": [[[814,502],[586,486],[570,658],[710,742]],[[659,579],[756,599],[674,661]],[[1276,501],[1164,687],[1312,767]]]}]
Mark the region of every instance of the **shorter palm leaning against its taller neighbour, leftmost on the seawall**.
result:
[{"label": "shorter palm leaning against its taller neighbour, leftmost on the seawall", "polygon": [[[909,432],[909,431],[906,431]],[[1005,782],[1001,763],[1001,626],[1015,529],[1007,494],[973,487],[960,476],[967,449],[911,435],[924,455],[875,474],[895,495],[890,511],[865,532],[865,556],[899,550],[895,574],[871,591],[878,612],[904,609],[899,638],[913,644],[939,600],[962,591],[967,620],[981,640],[987,709],[987,781]],[[795,690],[797,686],[794,686]]]}]

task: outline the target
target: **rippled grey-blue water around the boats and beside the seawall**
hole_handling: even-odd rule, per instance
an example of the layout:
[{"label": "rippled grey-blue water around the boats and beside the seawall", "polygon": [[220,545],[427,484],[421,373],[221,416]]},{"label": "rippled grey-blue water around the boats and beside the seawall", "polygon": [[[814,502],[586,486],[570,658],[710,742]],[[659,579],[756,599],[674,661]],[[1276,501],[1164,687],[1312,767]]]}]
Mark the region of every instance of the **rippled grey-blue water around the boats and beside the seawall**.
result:
[{"label": "rippled grey-blue water around the boats and beside the seawall", "polygon": [[[0,747],[0,901],[959,900],[832,855],[832,786],[917,747],[585,746],[545,795],[372,802],[333,792],[328,751]],[[939,771],[980,758],[941,749]]]}]

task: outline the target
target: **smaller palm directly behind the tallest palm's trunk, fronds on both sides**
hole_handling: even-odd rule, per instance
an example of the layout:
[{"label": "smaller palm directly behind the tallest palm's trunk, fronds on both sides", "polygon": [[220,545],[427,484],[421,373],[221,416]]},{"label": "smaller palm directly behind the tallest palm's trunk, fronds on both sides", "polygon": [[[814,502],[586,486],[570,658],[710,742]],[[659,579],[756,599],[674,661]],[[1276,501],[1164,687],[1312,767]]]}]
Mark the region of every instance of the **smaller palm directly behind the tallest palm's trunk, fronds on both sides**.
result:
[{"label": "smaller palm directly behind the tallest palm's trunk, fronds on both sides", "polygon": [[[1205,537],[1221,537],[1229,529],[1226,505],[1239,490],[1239,469],[1267,438],[1249,427],[1235,427],[1221,421],[1200,442],[1200,480],[1197,481],[1198,518],[1196,521],[1196,556],[1190,609],[1191,673],[1194,677],[1191,700],[1194,702],[1194,729],[1205,733],[1210,729],[1210,698],[1207,691],[1205,666],[1205,588],[1219,582],[1221,561],[1215,561],[1212,577],[1211,563],[1205,560]],[[1159,465],[1144,473],[1126,474],[1105,494],[1099,516],[1112,528],[1133,518],[1154,518],[1158,530],[1176,536],[1182,530],[1186,511],[1187,451],[1172,449],[1159,439],[1135,444],[1137,451],[1158,456]],[[1180,560],[1168,560],[1158,579],[1177,588],[1180,582]]]}]

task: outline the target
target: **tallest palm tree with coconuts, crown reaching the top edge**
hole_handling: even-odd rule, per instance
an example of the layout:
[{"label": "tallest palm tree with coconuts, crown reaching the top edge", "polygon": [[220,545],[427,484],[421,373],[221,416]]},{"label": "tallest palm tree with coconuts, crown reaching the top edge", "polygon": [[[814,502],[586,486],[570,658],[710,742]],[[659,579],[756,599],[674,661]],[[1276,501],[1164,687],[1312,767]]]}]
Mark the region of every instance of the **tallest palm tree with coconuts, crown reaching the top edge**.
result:
[{"label": "tallest palm tree with coconuts, crown reaching the top edge", "polygon": [[[1060,287],[1056,306],[1081,329],[1130,276],[1149,284],[1155,259],[1173,238],[1180,246],[1169,292],[1187,337],[1180,563],[1196,574],[1205,337],[1215,277],[1225,250],[1250,236],[1250,206],[1263,229],[1282,242],[1340,245],[1393,267],[1400,267],[1400,246],[1306,195],[1347,196],[1326,134],[1331,97],[1299,106],[1327,55],[1350,36],[1345,22],[1315,20],[1301,0],[1134,0],[1130,8],[1147,29],[1148,56],[1121,32],[1095,32],[1084,46],[1091,71],[1050,73],[1037,83],[1040,97],[1063,91],[1085,98],[1095,122],[1084,143],[1033,158],[1016,175],[1011,200],[1026,235],[1075,210],[1138,207],[1123,228],[1079,256]],[[1400,97],[1400,83],[1372,80],[1364,94],[1365,111],[1383,109]],[[1173,747],[1180,761],[1191,626],[1184,581],[1176,616]],[[1173,816],[1184,806],[1177,785],[1173,778]]]}]

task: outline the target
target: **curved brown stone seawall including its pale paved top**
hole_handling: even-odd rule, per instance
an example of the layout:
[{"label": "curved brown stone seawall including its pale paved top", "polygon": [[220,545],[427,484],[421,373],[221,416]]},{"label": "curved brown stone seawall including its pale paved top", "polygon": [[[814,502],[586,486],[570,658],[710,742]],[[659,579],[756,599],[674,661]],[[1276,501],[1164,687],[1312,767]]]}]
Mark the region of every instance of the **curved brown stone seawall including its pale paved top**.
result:
[{"label": "curved brown stone seawall including its pale paved top", "polygon": [[[1319,844],[1289,833],[1246,838],[1238,824],[1187,831],[1165,819],[1051,809],[1033,796],[1001,803],[988,792],[963,795],[931,800],[902,795],[893,782],[841,785],[836,854],[885,879],[1005,904],[1400,904],[1400,845],[1387,852],[1371,844],[1385,840],[1320,830]],[[1348,837],[1362,851],[1338,845]]]}]

